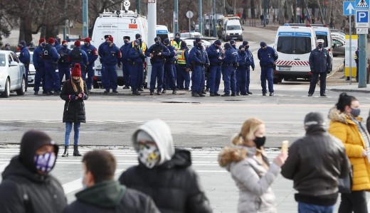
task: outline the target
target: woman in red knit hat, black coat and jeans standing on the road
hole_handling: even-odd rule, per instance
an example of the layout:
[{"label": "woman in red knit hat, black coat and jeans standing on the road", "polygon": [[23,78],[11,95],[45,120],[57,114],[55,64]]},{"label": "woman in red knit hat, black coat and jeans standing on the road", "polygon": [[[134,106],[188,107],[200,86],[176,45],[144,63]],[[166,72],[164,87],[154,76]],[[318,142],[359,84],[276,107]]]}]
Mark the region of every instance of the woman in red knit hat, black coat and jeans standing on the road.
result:
[{"label": "woman in red knit hat, black coat and jeans standing on the road", "polygon": [[65,123],[64,153],[62,157],[68,156],[70,131],[74,124],[75,131],[73,143],[73,156],[81,156],[78,151],[78,138],[80,138],[80,124],[86,123],[84,100],[88,99],[88,86],[81,77],[80,64],[76,63],[72,69],[72,78],[63,84],[60,98],[65,100],[63,111],[63,123]]}]

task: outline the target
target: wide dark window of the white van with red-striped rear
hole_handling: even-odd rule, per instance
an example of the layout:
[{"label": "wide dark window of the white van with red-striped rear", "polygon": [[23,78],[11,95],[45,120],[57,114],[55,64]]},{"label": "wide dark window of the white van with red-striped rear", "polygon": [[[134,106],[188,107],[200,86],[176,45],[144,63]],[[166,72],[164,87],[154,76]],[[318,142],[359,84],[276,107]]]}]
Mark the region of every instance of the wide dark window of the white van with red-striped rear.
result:
[{"label": "wide dark window of the white van with red-striped rear", "polygon": [[277,52],[286,54],[311,53],[311,38],[280,36],[277,40]]}]

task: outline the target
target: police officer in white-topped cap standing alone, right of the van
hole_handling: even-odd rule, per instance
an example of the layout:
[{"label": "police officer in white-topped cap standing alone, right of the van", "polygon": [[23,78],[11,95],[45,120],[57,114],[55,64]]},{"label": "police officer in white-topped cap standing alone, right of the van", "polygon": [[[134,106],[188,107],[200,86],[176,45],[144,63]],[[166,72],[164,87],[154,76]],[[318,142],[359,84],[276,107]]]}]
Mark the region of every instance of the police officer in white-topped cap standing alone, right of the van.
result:
[{"label": "police officer in white-topped cap standing alone, right of the van", "polygon": [[320,96],[326,97],[325,89],[327,86],[327,73],[330,72],[330,65],[332,64],[332,58],[324,48],[324,40],[317,39],[317,48],[311,51],[310,54],[310,68],[312,72],[312,79],[310,82],[310,89],[308,90],[308,96],[311,97],[314,94],[314,89],[317,84],[317,80],[320,75]]}]

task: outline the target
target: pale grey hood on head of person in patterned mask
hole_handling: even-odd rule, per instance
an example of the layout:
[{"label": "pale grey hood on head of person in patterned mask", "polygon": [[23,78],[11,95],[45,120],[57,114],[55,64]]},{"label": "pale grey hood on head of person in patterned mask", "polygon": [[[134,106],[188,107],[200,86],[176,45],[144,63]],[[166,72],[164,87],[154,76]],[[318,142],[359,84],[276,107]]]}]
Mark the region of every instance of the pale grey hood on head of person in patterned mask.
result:
[{"label": "pale grey hood on head of person in patterned mask", "polygon": [[159,165],[171,160],[175,153],[174,141],[171,129],[169,129],[169,126],[164,121],[155,119],[137,128],[132,135],[132,145],[136,151],[139,151],[139,144],[137,143],[137,133],[139,133],[139,131],[145,131],[154,139],[154,142],[157,143],[159,153],[161,154]]}]

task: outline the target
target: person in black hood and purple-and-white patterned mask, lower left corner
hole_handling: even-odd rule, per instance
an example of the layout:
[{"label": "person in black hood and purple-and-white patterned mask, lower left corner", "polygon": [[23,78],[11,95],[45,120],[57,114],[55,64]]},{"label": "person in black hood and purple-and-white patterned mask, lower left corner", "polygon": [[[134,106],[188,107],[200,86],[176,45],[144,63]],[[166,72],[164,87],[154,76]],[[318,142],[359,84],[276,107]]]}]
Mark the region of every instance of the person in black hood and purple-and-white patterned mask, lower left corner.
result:
[{"label": "person in black hood and purple-and-white patterned mask, lower left corner", "polygon": [[24,133],[19,155],[2,173],[0,212],[62,212],[67,198],[58,180],[50,175],[57,156],[58,146],[46,133]]}]

